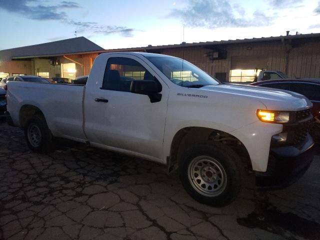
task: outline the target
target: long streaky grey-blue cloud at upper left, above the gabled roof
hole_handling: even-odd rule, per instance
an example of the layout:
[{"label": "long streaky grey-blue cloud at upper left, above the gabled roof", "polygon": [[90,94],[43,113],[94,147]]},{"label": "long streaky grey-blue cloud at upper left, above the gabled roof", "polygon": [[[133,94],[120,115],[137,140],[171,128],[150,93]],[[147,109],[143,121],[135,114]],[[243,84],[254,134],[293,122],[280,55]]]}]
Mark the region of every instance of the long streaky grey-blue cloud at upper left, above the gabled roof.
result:
[{"label": "long streaky grey-blue cloud at upper left, above the gabled roof", "polygon": [[94,21],[75,21],[68,17],[63,9],[81,7],[74,1],[60,1],[55,5],[51,1],[44,0],[0,0],[0,8],[34,20],[57,20],[65,24],[72,25],[77,32],[95,33],[95,34],[113,34],[118,33],[125,37],[133,36],[135,29],[126,26],[103,25]]}]

